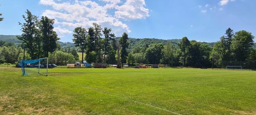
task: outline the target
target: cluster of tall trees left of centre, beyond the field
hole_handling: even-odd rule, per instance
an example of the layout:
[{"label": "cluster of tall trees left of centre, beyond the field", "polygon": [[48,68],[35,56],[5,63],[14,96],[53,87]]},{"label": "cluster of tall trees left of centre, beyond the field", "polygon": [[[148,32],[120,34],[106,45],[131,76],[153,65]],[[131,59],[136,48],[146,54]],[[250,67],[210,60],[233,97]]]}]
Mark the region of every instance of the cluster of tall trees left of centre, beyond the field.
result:
[{"label": "cluster of tall trees left of centre, beyond the field", "polygon": [[128,56],[127,48],[129,45],[127,33],[123,33],[122,37],[116,41],[115,35],[111,33],[111,29],[106,27],[102,29],[97,23],[93,23],[92,25],[88,29],[83,27],[76,27],[74,29],[73,42],[82,52],[82,62],[85,52],[85,60],[88,63],[107,63],[107,61],[108,63],[116,63],[116,55],[118,57],[117,61],[119,61],[120,55],[121,63],[126,63],[126,57]]}]

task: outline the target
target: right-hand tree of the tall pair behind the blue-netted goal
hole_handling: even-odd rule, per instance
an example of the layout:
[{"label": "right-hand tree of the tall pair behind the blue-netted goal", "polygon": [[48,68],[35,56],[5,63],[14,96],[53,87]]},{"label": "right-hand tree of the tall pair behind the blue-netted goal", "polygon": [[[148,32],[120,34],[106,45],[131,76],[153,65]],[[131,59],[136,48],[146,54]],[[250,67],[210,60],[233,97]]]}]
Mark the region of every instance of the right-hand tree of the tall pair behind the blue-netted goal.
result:
[{"label": "right-hand tree of the tall pair behind the blue-netted goal", "polygon": [[44,56],[48,57],[49,52],[54,52],[57,49],[58,38],[55,31],[53,31],[54,19],[49,19],[46,16],[42,16],[40,20],[40,29],[42,32]]}]

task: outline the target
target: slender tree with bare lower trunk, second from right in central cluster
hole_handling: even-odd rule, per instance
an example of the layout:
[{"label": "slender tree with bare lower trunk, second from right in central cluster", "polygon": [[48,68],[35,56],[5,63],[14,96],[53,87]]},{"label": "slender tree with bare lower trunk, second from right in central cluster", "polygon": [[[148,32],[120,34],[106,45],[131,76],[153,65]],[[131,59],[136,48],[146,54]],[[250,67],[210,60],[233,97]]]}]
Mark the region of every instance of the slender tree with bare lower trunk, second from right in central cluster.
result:
[{"label": "slender tree with bare lower trunk, second from right in central cluster", "polygon": [[102,32],[103,32],[103,34],[105,36],[105,38],[103,40],[103,45],[104,45],[104,56],[103,56],[104,59],[103,59],[103,63],[105,63],[106,62],[106,60],[105,60],[106,59],[106,53],[108,51],[107,48],[109,48],[110,41],[111,41],[111,39],[113,39],[115,37],[115,35],[114,34],[110,34],[111,29],[108,29],[108,28],[104,28],[104,30]]}]

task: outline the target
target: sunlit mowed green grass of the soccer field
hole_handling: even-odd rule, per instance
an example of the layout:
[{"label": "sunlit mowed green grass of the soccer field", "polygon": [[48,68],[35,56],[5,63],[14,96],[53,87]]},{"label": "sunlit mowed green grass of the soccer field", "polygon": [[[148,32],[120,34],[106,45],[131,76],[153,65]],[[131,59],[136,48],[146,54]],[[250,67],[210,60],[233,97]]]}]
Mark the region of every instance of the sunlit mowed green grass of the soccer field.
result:
[{"label": "sunlit mowed green grass of the soccer field", "polygon": [[256,72],[212,69],[0,69],[0,115],[255,115]]}]

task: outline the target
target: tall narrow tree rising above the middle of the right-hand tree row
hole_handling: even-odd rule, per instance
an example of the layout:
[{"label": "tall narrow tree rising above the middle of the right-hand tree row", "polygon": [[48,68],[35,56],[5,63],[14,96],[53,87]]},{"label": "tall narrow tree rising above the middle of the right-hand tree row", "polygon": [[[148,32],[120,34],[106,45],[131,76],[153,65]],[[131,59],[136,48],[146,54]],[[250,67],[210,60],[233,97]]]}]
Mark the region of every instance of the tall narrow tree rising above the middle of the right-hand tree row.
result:
[{"label": "tall narrow tree rising above the middle of the right-hand tree row", "polygon": [[190,47],[190,42],[187,37],[183,37],[178,43],[178,46],[180,47],[180,50],[182,52],[182,57],[181,57],[181,62],[182,65],[184,66],[186,63],[188,63],[188,55],[189,55],[189,47]]}]

